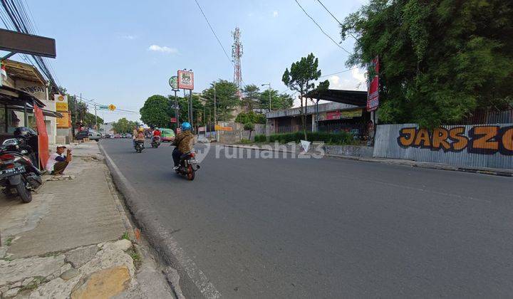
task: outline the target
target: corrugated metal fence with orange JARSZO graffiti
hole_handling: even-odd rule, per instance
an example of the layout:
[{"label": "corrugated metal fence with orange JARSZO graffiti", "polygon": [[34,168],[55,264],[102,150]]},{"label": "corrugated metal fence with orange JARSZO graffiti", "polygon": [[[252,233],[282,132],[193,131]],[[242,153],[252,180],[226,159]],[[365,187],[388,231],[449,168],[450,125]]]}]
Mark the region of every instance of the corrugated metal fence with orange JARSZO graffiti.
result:
[{"label": "corrugated metal fence with orange JARSZO graffiti", "polygon": [[513,169],[513,124],[378,125],[374,157]]}]

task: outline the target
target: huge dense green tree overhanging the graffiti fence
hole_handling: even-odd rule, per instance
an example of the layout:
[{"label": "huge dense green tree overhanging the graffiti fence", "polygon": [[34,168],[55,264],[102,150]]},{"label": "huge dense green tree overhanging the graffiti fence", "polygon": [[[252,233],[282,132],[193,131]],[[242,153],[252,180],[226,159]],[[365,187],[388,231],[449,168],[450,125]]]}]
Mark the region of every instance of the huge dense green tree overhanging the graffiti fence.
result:
[{"label": "huge dense green tree overhanging the graffiti fence", "polygon": [[[380,61],[380,120],[435,127],[512,101],[513,9],[499,0],[371,0],[346,18],[346,65]],[[372,71],[371,71],[372,75]]]}]

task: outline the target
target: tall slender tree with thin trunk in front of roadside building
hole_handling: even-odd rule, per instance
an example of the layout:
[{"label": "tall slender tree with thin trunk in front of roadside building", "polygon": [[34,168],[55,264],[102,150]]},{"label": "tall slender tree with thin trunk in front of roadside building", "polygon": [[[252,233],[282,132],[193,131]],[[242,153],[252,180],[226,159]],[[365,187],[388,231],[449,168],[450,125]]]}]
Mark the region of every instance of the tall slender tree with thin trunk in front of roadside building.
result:
[{"label": "tall slender tree with thin trunk in front of roadside building", "polygon": [[[301,126],[303,127],[304,140],[306,140],[306,98],[304,96],[309,91],[316,88],[315,81],[321,77],[321,70],[318,70],[318,58],[314,53],[302,57],[300,61],[292,63],[291,70],[285,69],[281,80],[290,89],[299,92],[301,101]],[[319,83],[321,88],[328,88],[328,80]]]}]

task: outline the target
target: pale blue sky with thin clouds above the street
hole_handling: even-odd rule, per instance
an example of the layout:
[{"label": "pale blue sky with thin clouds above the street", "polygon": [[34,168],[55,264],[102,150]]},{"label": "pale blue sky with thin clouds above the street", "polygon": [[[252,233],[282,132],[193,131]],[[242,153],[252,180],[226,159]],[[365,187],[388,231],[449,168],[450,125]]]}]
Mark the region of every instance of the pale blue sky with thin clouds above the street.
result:
[{"label": "pale blue sky with thin clouds above the street", "polygon": [[[316,0],[298,0],[336,41],[338,23]],[[231,55],[235,26],[242,31],[244,83],[271,82],[286,90],[281,75],[302,56],[314,53],[323,75],[346,70],[348,54],[335,46],[294,0],[198,0]],[[324,0],[343,20],[366,1]],[[217,78],[233,80],[233,67],[194,0],[36,1],[27,0],[38,34],[56,39],[51,60],[58,81],[70,93],[98,103],[139,110],[150,95],[171,93],[167,80],[179,68],[195,71],[195,92]],[[353,41],[341,46],[352,51]],[[16,57],[16,56],[15,56]],[[363,73],[329,78],[331,88],[364,89]],[[106,120],[138,115],[105,112]]]}]

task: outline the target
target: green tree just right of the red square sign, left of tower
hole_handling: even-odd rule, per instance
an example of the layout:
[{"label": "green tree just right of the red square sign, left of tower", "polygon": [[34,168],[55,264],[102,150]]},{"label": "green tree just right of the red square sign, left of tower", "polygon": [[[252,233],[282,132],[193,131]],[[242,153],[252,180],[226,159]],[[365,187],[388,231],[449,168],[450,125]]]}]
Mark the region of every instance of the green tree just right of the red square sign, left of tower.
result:
[{"label": "green tree just right of the red square sign, left of tower", "polygon": [[214,111],[214,89],[216,95],[217,120],[227,121],[232,118],[232,112],[240,104],[237,95],[237,85],[227,80],[219,79],[203,90],[202,98],[205,99],[205,108]]}]

